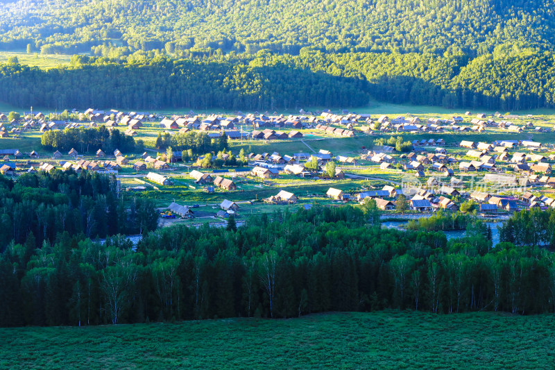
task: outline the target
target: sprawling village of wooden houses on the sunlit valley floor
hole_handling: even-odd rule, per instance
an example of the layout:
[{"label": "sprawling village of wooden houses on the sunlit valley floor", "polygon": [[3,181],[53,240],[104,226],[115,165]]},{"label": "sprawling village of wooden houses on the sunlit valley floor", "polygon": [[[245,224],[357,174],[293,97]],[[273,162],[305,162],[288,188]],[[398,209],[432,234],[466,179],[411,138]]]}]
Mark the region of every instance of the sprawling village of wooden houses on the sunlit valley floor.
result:
[{"label": "sprawling village of wooden houses on the sunlit valley floor", "polygon": [[[96,171],[117,178],[130,196],[155,200],[160,224],[217,223],[234,215],[375,200],[385,215],[464,210],[499,217],[555,207],[553,125],[532,115],[446,117],[305,112],[299,115],[155,115],[88,109],[74,121],[24,112],[0,115],[0,172]],[[56,117],[58,118],[58,117]],[[46,151],[40,135],[66,128],[118,129],[144,149]],[[164,135],[225,135],[230,153],[182,158],[155,147]],[[244,156],[244,165],[228,165]],[[210,155],[209,155],[210,159]],[[213,161],[212,160],[212,161]],[[462,207],[461,207],[462,206]]]}]

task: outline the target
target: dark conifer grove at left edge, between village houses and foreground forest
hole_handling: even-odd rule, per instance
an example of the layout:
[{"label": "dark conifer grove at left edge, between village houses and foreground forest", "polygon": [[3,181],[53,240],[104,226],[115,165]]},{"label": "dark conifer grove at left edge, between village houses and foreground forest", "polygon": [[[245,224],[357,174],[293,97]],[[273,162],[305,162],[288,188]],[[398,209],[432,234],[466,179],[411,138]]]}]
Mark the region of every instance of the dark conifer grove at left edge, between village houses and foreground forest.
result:
[{"label": "dark conifer grove at left edge, between village houses and foreground forest", "polygon": [[22,244],[19,251],[31,255],[64,231],[105,237],[157,226],[151,201],[127,199],[113,176],[92,171],[39,171],[15,184],[1,176],[0,194],[0,251]]}]

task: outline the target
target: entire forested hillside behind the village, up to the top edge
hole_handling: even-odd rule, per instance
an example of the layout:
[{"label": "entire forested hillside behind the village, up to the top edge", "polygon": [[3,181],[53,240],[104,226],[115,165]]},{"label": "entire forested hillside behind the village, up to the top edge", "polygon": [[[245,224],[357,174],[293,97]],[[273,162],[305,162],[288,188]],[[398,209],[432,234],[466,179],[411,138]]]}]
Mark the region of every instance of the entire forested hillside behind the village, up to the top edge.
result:
[{"label": "entire forested hillside behind the village, up to the top edge", "polygon": [[373,97],[553,108],[554,11],[553,0],[8,1],[0,49],[96,59],[50,71],[12,60],[0,69],[0,100],[276,110]]}]

